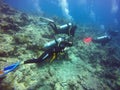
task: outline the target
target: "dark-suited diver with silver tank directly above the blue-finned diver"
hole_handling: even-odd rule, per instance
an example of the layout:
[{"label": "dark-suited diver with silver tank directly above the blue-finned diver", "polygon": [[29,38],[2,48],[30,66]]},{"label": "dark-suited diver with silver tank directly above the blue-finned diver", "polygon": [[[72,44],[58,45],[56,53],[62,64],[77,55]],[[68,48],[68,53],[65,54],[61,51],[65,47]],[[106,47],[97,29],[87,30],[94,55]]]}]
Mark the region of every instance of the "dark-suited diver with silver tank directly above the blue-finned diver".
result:
[{"label": "dark-suited diver with silver tank directly above the blue-finned diver", "polygon": [[74,36],[75,30],[77,29],[77,26],[73,25],[72,23],[64,24],[57,27],[54,22],[49,22],[49,25],[52,27],[56,34],[67,34],[69,36]]}]

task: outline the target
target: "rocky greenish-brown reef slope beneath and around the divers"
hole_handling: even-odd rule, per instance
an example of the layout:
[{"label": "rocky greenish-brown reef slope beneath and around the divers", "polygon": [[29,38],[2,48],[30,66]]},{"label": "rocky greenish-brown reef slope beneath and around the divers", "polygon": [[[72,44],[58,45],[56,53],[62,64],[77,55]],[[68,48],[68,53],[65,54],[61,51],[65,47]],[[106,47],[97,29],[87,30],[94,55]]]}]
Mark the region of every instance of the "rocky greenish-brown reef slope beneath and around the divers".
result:
[{"label": "rocky greenish-brown reef slope beneath and around the divers", "polygon": [[[0,0],[0,69],[38,58],[44,52],[44,43],[54,38],[53,30],[41,17],[19,12]],[[53,19],[56,23],[64,21]],[[0,79],[0,90],[119,90],[119,37],[106,46],[82,41],[101,34],[97,29],[78,25],[67,57],[41,65],[22,64]]]}]

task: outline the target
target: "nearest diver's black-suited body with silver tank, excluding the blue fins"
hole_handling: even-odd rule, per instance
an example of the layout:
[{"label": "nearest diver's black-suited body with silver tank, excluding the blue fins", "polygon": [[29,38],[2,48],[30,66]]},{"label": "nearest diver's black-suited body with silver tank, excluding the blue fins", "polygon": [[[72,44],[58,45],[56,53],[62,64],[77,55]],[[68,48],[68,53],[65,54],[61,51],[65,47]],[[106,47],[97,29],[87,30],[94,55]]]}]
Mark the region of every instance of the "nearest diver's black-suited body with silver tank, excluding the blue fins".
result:
[{"label": "nearest diver's black-suited body with silver tank, excluding the blue fins", "polygon": [[45,48],[47,49],[39,58],[24,61],[24,64],[41,63],[47,61],[48,59],[52,62],[57,58],[58,54],[64,52],[67,47],[71,47],[72,45],[72,42],[65,41],[63,38],[58,38],[57,40],[51,41],[45,45]]}]

